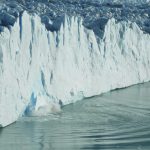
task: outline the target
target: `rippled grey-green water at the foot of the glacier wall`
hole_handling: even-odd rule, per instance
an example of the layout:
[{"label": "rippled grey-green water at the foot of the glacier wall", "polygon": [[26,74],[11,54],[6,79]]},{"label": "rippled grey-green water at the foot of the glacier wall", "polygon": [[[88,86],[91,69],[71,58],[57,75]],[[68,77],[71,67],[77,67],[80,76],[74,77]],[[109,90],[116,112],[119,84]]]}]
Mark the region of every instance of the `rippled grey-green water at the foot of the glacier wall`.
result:
[{"label": "rippled grey-green water at the foot of the glacier wall", "polygon": [[0,150],[150,150],[150,83],[22,118],[0,129]]}]

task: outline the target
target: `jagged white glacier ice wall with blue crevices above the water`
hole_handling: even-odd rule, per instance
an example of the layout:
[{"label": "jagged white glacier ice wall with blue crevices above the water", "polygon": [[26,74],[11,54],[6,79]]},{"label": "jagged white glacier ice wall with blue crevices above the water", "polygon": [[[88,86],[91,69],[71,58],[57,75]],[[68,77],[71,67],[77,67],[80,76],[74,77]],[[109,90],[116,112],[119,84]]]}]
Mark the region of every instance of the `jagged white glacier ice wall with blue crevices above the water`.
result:
[{"label": "jagged white glacier ice wall with blue crevices above the water", "polygon": [[0,125],[46,115],[61,105],[150,80],[150,35],[110,19],[97,41],[80,17],[58,32],[24,12],[0,34]]}]

